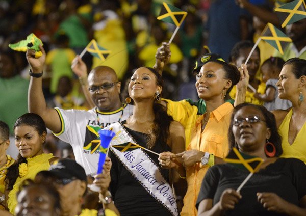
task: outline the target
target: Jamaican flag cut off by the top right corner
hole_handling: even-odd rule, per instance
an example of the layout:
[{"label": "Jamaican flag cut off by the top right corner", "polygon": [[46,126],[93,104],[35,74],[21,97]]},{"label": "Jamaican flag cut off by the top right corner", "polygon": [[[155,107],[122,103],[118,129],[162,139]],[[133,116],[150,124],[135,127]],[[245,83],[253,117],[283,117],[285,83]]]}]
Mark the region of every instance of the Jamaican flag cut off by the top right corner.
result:
[{"label": "Jamaican flag cut off by the top right corner", "polygon": [[274,9],[282,27],[306,18],[306,4],[304,0],[294,0]]}]

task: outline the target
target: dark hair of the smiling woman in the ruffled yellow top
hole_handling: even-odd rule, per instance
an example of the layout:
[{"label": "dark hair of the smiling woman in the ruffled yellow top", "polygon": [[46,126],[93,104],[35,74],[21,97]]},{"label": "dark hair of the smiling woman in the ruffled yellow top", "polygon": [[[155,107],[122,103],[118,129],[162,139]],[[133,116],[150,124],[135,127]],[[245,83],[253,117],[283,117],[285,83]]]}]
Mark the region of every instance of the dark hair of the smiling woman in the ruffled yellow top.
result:
[{"label": "dark hair of the smiling woman in the ruffled yellow top", "polygon": [[[26,113],[20,116],[14,124],[14,130],[16,127],[21,125],[34,127],[40,136],[43,134],[43,132],[47,132],[43,119],[35,113]],[[5,176],[5,183],[8,184],[8,190],[13,189],[19,175],[19,165],[22,163],[27,164],[27,158],[22,157],[19,153],[15,163],[8,168],[8,172]]]}]

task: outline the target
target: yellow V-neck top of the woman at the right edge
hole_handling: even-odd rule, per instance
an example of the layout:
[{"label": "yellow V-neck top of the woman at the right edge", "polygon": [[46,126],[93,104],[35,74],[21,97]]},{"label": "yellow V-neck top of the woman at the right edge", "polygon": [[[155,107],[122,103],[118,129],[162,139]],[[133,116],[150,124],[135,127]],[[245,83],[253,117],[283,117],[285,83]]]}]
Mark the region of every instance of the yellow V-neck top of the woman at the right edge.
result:
[{"label": "yellow V-neck top of the woman at the right edge", "polygon": [[292,116],[292,109],[288,112],[281,126],[278,127],[278,133],[282,137],[283,154],[281,157],[294,157],[306,163],[306,122],[297,133],[294,142],[290,145],[288,142],[289,124]]}]

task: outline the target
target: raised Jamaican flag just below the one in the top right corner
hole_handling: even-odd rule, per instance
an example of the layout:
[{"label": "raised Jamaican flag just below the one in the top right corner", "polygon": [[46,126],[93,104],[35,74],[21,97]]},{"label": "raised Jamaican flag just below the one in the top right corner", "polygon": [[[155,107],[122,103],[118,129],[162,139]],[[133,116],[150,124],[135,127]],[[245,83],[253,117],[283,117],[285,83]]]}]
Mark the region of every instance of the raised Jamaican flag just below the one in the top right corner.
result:
[{"label": "raised Jamaican flag just below the one in the top right corner", "polygon": [[277,49],[282,55],[284,49],[292,40],[281,30],[277,29],[273,24],[268,23],[261,34],[261,39],[265,40],[275,49]]}]

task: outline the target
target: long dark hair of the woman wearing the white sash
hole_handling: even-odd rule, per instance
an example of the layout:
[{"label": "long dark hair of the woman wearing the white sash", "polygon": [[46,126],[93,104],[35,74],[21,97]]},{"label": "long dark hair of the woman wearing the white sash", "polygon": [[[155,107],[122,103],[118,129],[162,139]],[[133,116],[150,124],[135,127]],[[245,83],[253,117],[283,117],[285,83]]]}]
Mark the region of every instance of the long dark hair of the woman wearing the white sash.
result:
[{"label": "long dark hair of the woman wearing the white sash", "polygon": [[[155,69],[146,67],[152,73],[154,73],[156,77],[156,85],[161,86],[163,88],[164,81],[161,76]],[[161,94],[159,95],[161,97]],[[155,114],[155,119],[153,121],[153,126],[151,130],[151,134],[147,143],[148,148],[152,148],[155,144],[160,143],[164,150],[167,149],[167,139],[169,137],[169,127],[171,122],[173,121],[172,116],[167,114],[165,106],[158,103],[157,100],[154,100],[153,110]]]}]

